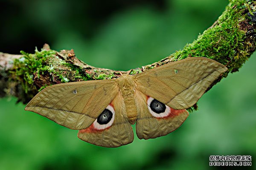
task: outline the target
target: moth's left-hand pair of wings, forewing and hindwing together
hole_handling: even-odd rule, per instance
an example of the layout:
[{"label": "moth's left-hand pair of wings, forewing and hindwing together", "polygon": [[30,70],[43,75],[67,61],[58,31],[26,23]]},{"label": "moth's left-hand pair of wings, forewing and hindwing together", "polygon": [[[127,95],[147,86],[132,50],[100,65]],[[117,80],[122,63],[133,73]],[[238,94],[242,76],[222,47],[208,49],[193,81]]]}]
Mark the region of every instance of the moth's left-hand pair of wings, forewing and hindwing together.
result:
[{"label": "moth's left-hand pair of wings, forewing and hindwing together", "polygon": [[26,106],[59,125],[79,130],[78,137],[104,147],[131,143],[132,127],[115,79],[52,85]]}]

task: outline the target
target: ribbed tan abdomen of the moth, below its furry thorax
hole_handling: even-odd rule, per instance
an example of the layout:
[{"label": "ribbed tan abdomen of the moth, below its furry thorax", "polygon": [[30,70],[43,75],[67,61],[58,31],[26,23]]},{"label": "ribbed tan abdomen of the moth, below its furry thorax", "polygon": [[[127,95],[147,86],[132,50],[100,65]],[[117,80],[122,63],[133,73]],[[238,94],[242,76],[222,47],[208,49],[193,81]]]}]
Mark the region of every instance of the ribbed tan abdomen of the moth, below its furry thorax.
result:
[{"label": "ribbed tan abdomen of the moth, below its furry thorax", "polygon": [[137,120],[137,109],[135,106],[134,97],[124,98],[125,101],[125,109],[127,113],[127,117],[129,122],[134,125]]}]

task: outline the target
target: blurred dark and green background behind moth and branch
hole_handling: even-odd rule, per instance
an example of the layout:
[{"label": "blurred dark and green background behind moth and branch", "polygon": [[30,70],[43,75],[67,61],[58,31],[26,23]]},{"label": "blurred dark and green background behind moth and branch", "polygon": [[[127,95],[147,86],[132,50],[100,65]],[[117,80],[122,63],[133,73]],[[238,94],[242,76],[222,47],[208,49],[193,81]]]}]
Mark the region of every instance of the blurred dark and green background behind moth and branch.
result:
[{"label": "blurred dark and green background behind moth and branch", "polygon": [[[0,0],[0,51],[75,50],[87,64],[128,70],[158,61],[214,23],[227,0]],[[0,99],[0,170],[220,169],[210,155],[250,155],[256,169],[256,54],[199,100],[175,132],[118,148]]]}]

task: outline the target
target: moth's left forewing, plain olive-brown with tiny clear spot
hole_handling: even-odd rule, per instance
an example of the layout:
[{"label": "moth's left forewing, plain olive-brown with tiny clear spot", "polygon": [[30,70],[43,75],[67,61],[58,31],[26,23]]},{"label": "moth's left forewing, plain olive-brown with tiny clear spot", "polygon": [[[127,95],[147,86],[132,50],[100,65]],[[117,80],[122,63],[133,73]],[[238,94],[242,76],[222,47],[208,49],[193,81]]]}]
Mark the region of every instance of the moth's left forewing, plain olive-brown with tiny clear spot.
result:
[{"label": "moth's left forewing, plain olive-brown with tiny clear spot", "polygon": [[84,129],[119,93],[115,79],[51,85],[26,105],[33,111],[70,129]]}]

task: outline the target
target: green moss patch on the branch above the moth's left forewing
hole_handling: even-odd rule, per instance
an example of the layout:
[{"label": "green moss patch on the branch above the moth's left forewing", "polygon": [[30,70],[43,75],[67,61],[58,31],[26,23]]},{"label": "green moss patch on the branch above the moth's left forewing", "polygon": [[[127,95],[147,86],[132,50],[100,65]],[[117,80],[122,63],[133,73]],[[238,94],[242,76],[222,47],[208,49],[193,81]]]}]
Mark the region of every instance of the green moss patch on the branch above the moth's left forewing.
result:
[{"label": "green moss patch on the branch above the moth's left forewing", "polygon": [[[21,82],[21,86],[25,93],[31,88],[33,88],[35,77],[40,77],[47,73],[52,82],[73,82],[79,80],[91,80],[90,74],[84,73],[83,69],[79,66],[67,63],[65,60],[59,58],[54,50],[44,50],[38,51],[35,49],[35,54],[28,54],[24,51],[20,51],[23,57],[20,59],[15,59],[14,68],[12,71],[14,79],[18,79]],[[55,79],[53,79],[53,77]],[[57,80],[56,80],[57,77]],[[102,77],[102,76],[101,76]],[[49,80],[48,80],[49,82]],[[46,85],[43,85],[39,91],[44,89]]]}]

